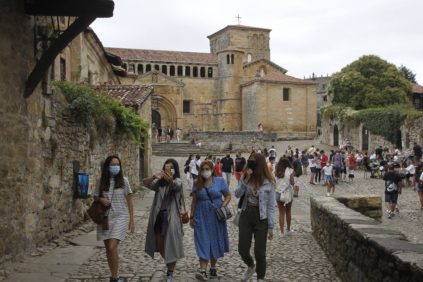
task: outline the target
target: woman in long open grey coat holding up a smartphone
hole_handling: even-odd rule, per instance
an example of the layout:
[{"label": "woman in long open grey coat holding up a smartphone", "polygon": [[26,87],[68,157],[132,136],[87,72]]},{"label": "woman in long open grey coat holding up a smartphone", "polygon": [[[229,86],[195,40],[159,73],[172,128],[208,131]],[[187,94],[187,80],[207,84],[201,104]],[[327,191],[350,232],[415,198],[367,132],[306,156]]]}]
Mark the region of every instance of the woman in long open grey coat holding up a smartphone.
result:
[{"label": "woman in long open grey coat holding up a smartphone", "polygon": [[168,159],[163,170],[143,179],[143,186],[156,192],[148,220],[145,252],[154,258],[154,252],[159,251],[168,266],[166,282],[172,282],[176,262],[185,257],[179,216],[182,181],[178,162]]}]

